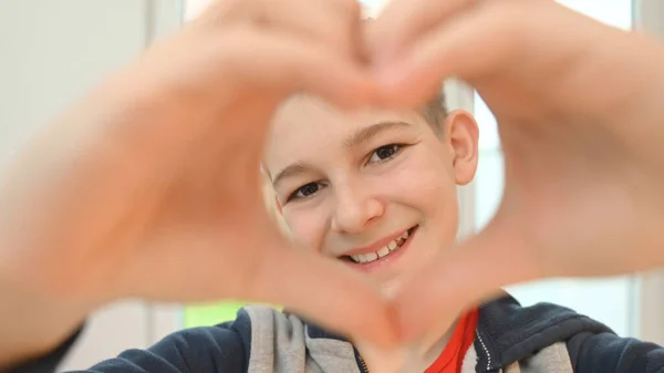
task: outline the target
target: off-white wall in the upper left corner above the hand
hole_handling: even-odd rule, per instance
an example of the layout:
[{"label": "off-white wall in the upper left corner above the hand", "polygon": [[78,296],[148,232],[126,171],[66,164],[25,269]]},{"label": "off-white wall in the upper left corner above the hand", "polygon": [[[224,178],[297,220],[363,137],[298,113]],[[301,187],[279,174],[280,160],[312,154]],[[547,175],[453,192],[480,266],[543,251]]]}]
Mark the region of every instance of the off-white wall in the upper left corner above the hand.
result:
[{"label": "off-white wall in the upper left corner above the hand", "polygon": [[143,49],[144,8],[136,0],[0,1],[0,163]]}]

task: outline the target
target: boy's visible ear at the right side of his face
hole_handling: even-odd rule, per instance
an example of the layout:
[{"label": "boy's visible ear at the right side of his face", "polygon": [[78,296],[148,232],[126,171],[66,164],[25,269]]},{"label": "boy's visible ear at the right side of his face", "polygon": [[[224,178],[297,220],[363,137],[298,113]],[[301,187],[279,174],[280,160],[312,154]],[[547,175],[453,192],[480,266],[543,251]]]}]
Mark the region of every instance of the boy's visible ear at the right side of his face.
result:
[{"label": "boy's visible ear at the right side of his face", "polygon": [[445,120],[445,128],[453,151],[455,180],[458,185],[466,185],[473,180],[477,170],[477,122],[470,113],[455,110]]}]

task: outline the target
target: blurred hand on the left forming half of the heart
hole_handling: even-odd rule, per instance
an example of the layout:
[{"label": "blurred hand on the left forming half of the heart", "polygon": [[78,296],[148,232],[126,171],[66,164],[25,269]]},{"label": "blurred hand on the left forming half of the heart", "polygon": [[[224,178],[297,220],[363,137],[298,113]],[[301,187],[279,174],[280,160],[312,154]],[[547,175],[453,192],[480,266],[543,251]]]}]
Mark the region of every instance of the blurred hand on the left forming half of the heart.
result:
[{"label": "blurred hand on the left forming half of the heart", "polygon": [[58,319],[4,318],[0,345],[46,349],[124,297],[273,302],[390,343],[377,290],[287,245],[260,193],[263,137],[286,96],[374,95],[359,30],[355,0],[217,1],[51,126],[2,177],[0,286],[14,293],[0,303]]}]

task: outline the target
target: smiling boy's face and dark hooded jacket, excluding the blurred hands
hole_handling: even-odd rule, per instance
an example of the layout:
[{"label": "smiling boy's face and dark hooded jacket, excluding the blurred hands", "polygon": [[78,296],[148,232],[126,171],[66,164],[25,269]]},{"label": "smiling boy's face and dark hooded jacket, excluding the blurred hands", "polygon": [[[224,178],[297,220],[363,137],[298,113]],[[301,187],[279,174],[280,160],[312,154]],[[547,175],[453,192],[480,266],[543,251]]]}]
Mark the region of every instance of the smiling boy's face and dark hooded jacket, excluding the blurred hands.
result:
[{"label": "smiling boy's face and dark hooded jacket, excluding the blurred hands", "polygon": [[[477,139],[473,116],[448,113],[440,97],[419,112],[345,114],[301,95],[278,112],[263,167],[297,246],[388,284],[454,242],[456,187],[474,177]],[[247,307],[232,322],[177,332],[91,372],[369,372],[365,355],[374,371],[403,363],[294,314]],[[421,363],[405,372],[655,372],[664,350],[505,296],[460,315]]]}]

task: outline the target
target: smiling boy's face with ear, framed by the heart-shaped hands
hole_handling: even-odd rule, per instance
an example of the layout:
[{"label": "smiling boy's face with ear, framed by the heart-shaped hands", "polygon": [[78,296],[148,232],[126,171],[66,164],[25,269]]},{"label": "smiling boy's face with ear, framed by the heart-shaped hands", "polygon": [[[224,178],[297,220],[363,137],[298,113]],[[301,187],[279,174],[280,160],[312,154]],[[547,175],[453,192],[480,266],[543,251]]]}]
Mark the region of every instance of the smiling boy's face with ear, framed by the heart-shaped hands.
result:
[{"label": "smiling boy's face with ear, framed by the heart-shaped hands", "polygon": [[416,112],[344,113],[297,96],[277,113],[264,167],[295,245],[385,283],[448,248],[456,186],[477,165],[477,124],[452,113],[434,132]]}]

